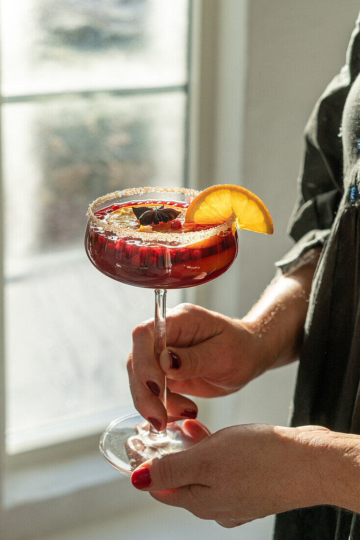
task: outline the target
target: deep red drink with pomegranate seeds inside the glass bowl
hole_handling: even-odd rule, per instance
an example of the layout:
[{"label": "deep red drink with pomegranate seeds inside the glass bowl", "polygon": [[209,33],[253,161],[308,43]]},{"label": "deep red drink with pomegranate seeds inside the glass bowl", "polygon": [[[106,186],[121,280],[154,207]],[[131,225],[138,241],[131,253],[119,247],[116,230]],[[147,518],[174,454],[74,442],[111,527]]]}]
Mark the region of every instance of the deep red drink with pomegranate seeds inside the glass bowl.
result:
[{"label": "deep red drink with pomegranate seeds inside the glass bowl", "polygon": [[[237,254],[237,233],[235,227],[215,231],[209,236],[210,227],[203,227],[203,237],[193,241],[193,233],[188,228],[171,228],[171,224],[153,226],[153,239],[136,238],[135,228],[124,230],[119,237],[112,231],[106,231],[107,219],[123,210],[123,217],[132,207],[146,205],[159,207],[173,206],[177,210],[186,210],[186,204],[172,201],[151,201],[144,203],[114,204],[94,213],[104,222],[104,228],[89,221],[85,234],[86,253],[92,264],[103,274],[127,285],[151,289],[179,289],[193,287],[213,280],[227,271]],[[180,216],[181,218],[181,216]],[[179,220],[176,220],[179,221]],[[111,221],[110,221],[111,223]],[[137,220],[133,215],[133,223]],[[214,227],[212,227],[214,228]],[[156,230],[155,230],[156,229]],[[141,231],[140,236],[141,236]],[[166,235],[167,239],[157,239]],[[201,231],[200,231],[201,236]],[[172,237],[176,238],[172,241]],[[190,240],[189,240],[190,239]]]}]

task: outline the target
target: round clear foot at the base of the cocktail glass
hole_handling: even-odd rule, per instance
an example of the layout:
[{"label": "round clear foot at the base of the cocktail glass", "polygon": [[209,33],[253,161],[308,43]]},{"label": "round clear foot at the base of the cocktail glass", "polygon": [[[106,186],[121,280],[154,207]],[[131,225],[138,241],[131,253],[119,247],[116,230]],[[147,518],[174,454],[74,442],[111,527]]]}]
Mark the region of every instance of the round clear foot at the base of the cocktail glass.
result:
[{"label": "round clear foot at the base of the cocktail glass", "polygon": [[120,473],[131,476],[141,463],[163,454],[190,448],[194,440],[181,428],[181,420],[168,423],[166,435],[152,435],[150,424],[138,413],[111,422],[100,438],[100,452]]}]

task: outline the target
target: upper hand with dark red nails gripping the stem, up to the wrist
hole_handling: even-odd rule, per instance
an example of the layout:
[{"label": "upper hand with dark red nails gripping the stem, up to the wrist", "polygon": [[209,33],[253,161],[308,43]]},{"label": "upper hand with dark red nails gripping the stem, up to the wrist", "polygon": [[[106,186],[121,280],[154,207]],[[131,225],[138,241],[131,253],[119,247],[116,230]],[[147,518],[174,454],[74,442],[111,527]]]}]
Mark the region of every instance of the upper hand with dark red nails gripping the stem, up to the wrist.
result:
[{"label": "upper hand with dark red nails gripping the stem, up to the wrist", "polygon": [[[160,365],[153,354],[153,324],[151,319],[134,329],[127,369],[134,405],[157,429],[164,429],[167,421],[196,417],[195,403],[181,393],[224,396],[266,369],[259,336],[250,322],[180,304],[167,315],[168,347],[160,355]],[[164,373],[167,411],[160,401]]]}]

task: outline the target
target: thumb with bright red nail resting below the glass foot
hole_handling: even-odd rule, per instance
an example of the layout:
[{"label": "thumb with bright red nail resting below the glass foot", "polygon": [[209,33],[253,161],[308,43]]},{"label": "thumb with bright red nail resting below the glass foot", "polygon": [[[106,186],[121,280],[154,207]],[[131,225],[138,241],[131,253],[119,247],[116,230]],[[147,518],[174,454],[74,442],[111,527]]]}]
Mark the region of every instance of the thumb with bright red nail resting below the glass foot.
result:
[{"label": "thumb with bright red nail resting below the glass foot", "polygon": [[198,483],[191,450],[164,454],[142,463],[131,476],[133,486],[144,491],[166,491]]}]

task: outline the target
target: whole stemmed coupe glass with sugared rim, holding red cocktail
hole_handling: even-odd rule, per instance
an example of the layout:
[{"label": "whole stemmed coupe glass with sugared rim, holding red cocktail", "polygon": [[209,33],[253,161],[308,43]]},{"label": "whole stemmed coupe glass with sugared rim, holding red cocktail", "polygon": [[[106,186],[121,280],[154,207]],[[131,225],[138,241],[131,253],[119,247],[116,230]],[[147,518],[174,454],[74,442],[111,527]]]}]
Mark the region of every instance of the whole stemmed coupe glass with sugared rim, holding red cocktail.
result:
[{"label": "whole stemmed coupe glass with sugared rim, holding red cocktail", "polygon": [[[191,232],[161,224],[147,232],[147,227],[139,227],[135,217],[137,228],[120,226],[108,218],[126,207],[158,208],[162,204],[182,210],[184,216],[184,209],[199,193],[187,188],[130,188],[99,197],[87,211],[85,249],[92,264],[110,278],[155,291],[154,356],[158,361],[166,347],[167,289],[201,285],[227,271],[237,254],[234,217],[223,225],[198,226]],[[166,408],[166,378],[160,399]],[[112,467],[130,476],[142,462],[193,443],[179,422],[168,423],[166,429],[158,431],[139,414],[131,414],[114,420],[106,428],[100,451]]]}]

